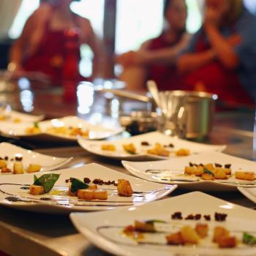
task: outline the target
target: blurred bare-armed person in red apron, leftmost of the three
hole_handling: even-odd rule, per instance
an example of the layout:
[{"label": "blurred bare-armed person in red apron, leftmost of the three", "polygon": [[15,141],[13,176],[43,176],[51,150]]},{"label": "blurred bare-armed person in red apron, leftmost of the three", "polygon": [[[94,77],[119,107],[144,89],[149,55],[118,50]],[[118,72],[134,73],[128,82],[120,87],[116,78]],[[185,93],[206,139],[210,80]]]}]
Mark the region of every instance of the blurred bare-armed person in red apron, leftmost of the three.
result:
[{"label": "blurred bare-armed person in red apron, leftmost of the three", "polygon": [[63,80],[64,69],[70,64],[67,63],[70,62],[70,56],[78,72],[80,45],[86,43],[94,53],[92,78],[99,73],[99,41],[90,21],[70,10],[71,2],[41,1],[12,46],[8,66],[11,71],[17,75],[42,72],[50,77],[54,85],[59,85]]}]

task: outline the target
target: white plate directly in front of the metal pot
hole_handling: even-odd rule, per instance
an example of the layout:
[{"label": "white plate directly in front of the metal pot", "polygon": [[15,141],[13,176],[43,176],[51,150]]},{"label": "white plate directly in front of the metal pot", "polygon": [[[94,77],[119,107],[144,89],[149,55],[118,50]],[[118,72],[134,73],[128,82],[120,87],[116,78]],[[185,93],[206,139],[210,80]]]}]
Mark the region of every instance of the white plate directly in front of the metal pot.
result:
[{"label": "white plate directly in front of the metal pot", "polygon": [[[150,146],[142,146],[142,142],[150,143]],[[197,154],[203,151],[223,151],[226,146],[211,146],[201,143],[193,143],[187,140],[180,140],[178,138],[170,138],[167,135],[163,135],[160,132],[148,132],[144,135],[137,135],[131,138],[125,138],[121,140],[111,141],[89,141],[80,138],[78,140],[80,146],[87,151],[97,154],[102,157],[109,157],[113,159],[131,160],[131,161],[146,161],[156,159],[167,159],[175,157],[175,151],[180,148],[188,148],[191,154]],[[123,144],[133,143],[137,149],[137,154],[129,154],[124,151]],[[159,157],[153,154],[147,154],[149,148],[154,148],[155,143],[161,143],[162,145],[173,144],[173,148],[167,147],[166,149],[171,152],[170,157]],[[102,150],[101,146],[104,144],[113,144],[116,146],[116,151]]]}]

